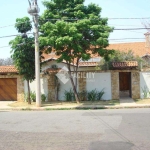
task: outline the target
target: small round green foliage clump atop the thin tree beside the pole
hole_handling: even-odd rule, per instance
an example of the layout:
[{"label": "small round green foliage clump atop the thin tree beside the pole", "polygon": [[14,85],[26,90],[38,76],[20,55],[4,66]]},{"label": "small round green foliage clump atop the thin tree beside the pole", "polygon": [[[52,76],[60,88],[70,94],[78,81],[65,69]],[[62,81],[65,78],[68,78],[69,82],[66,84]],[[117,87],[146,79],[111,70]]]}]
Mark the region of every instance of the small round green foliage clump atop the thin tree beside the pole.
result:
[{"label": "small round green foliage clump atop the thin tree beside the pole", "polygon": [[15,28],[20,33],[26,33],[32,29],[31,21],[28,17],[17,18]]}]

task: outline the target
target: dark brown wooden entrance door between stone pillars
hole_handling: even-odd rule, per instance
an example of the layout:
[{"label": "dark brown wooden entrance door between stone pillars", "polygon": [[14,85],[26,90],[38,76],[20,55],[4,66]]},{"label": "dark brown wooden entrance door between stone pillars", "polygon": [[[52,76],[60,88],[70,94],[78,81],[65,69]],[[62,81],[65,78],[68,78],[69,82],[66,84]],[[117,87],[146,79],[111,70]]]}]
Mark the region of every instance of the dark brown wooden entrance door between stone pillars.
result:
[{"label": "dark brown wooden entrance door between stone pillars", "polygon": [[131,72],[119,72],[120,97],[131,97]]}]

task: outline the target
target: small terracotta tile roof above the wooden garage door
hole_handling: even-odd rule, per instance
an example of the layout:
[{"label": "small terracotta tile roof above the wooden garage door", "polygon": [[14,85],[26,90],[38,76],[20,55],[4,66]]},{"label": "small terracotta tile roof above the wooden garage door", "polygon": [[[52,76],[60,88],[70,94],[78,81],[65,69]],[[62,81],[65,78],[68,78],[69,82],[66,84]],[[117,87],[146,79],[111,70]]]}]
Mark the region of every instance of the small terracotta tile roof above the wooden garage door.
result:
[{"label": "small terracotta tile roof above the wooden garage door", "polygon": [[17,73],[15,66],[0,66],[0,74],[3,73]]}]

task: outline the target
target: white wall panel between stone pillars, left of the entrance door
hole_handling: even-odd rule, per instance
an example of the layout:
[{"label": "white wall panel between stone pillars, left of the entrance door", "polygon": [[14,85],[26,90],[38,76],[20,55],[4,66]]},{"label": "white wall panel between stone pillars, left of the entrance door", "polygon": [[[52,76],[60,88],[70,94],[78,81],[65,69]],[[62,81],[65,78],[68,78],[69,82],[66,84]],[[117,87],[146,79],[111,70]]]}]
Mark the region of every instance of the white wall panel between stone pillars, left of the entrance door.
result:
[{"label": "white wall panel between stone pillars, left of the entrance door", "polygon": [[96,89],[101,91],[104,88],[103,100],[112,99],[111,95],[111,74],[110,73],[95,73],[94,78],[91,77],[86,82],[86,88],[88,91]]}]

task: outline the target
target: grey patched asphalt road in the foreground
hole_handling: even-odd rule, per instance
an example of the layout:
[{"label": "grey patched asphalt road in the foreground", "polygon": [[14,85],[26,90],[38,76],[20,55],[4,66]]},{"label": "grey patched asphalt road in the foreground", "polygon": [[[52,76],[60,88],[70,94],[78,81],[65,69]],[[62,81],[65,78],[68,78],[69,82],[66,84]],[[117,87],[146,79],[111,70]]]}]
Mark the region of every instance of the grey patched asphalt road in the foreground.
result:
[{"label": "grey patched asphalt road in the foreground", "polygon": [[150,109],[0,111],[0,150],[149,150]]}]

